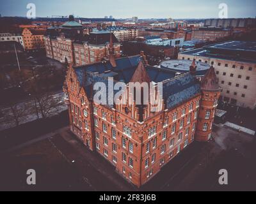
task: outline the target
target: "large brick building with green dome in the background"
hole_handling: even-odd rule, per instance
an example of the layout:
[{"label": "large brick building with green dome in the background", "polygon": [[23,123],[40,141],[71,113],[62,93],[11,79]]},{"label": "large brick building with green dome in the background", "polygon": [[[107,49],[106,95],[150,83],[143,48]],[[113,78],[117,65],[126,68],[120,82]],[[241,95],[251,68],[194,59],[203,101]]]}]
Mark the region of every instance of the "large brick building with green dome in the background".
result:
[{"label": "large brick building with green dome in the background", "polygon": [[115,57],[120,57],[120,43],[113,33],[101,29],[86,35],[83,32],[83,25],[70,16],[68,22],[61,27],[51,27],[47,30],[44,36],[46,55],[51,59],[76,66],[99,62],[109,57],[111,37],[113,37]]}]

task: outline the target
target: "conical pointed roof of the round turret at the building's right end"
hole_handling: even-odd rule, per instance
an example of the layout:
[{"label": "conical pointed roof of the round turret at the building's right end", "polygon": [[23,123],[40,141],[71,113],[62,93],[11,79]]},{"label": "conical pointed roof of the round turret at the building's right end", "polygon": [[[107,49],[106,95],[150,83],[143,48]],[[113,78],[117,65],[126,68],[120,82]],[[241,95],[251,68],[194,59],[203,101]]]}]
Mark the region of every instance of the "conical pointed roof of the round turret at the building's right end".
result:
[{"label": "conical pointed roof of the round turret at the building's right end", "polygon": [[213,66],[211,66],[202,78],[201,89],[206,91],[220,91],[221,88],[218,84],[218,78],[216,77]]}]

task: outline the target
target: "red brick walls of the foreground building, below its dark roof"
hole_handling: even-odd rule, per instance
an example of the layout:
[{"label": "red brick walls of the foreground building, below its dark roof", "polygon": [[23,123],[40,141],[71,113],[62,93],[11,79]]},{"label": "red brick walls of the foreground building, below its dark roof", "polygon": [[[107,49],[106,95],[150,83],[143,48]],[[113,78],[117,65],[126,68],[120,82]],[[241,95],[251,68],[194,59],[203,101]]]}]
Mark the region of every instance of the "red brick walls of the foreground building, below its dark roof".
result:
[{"label": "red brick walls of the foreground building, below its dark roof", "polygon": [[[160,112],[150,112],[150,105],[145,106],[141,120],[137,106],[109,108],[95,104],[79,84],[75,70],[69,66],[63,86],[71,131],[90,150],[108,159],[135,186],[148,182],[194,140],[208,140],[205,134],[211,133],[219,91],[211,91],[207,97],[203,91],[171,109],[165,109],[163,101]],[[140,76],[138,70],[136,75]],[[211,119],[205,119],[205,108],[211,109]],[[202,134],[201,126],[205,122],[209,128]]]}]

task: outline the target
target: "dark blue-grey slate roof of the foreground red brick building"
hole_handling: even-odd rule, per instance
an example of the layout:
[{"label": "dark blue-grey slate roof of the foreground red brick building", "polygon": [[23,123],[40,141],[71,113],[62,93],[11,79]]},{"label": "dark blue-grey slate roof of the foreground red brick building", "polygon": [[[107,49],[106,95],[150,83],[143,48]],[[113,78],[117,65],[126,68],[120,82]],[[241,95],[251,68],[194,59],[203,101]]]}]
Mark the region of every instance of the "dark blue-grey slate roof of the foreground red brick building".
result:
[{"label": "dark blue-grey slate roof of the foreground red brick building", "polygon": [[[140,61],[141,56],[135,55],[116,59],[115,68],[111,66],[109,61],[104,61],[76,67],[75,71],[80,84],[83,85],[89,95],[95,93],[92,92],[92,85],[95,82],[106,84],[108,94],[108,77],[114,77],[114,84],[116,81],[128,84]],[[151,81],[163,82],[163,97],[166,101],[166,108],[173,108],[200,93],[199,82],[189,73],[175,77],[175,72],[166,69],[152,66],[145,66],[145,69]],[[114,91],[114,94],[115,92],[118,91]],[[110,107],[113,108],[111,105]]]}]

